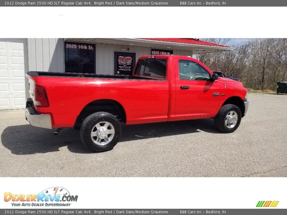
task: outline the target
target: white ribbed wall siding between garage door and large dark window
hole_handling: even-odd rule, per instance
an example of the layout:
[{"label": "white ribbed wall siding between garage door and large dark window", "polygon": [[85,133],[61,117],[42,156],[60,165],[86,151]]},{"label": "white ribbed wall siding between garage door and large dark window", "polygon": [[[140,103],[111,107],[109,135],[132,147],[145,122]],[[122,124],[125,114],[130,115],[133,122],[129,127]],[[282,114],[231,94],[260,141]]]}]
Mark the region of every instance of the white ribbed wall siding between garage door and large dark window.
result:
[{"label": "white ribbed wall siding between garage door and large dark window", "polygon": [[64,72],[64,40],[28,38],[28,70]]}]

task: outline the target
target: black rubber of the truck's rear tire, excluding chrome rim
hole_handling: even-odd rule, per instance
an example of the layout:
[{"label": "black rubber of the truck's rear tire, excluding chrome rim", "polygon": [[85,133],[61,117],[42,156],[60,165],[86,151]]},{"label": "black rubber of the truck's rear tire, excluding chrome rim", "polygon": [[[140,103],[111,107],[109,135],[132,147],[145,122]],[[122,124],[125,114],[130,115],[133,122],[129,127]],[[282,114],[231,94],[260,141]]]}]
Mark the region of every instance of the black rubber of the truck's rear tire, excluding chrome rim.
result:
[{"label": "black rubber of the truck's rear tire, excluding chrome rim", "polygon": [[[91,137],[92,129],[100,122],[109,122],[114,127],[115,133],[111,140],[111,142],[106,145],[98,145],[94,141],[97,136]],[[94,128],[95,129],[95,128]],[[94,130],[93,129],[93,130]],[[95,131],[95,130],[94,130]],[[88,148],[92,152],[100,152],[100,151],[108,151],[111,150],[119,141],[122,133],[122,128],[118,119],[106,112],[97,112],[89,115],[82,123],[80,128],[80,137],[86,148]],[[102,140],[101,140],[102,141]],[[107,141],[108,142],[108,141]]]}]

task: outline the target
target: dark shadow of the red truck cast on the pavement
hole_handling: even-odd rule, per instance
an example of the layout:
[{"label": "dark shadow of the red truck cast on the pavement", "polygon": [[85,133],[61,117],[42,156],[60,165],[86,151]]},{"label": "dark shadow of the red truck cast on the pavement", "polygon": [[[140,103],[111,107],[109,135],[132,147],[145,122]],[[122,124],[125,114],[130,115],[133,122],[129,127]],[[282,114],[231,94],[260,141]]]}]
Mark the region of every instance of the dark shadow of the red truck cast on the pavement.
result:
[{"label": "dark shadow of the red truck cast on the pavement", "polygon": [[[200,130],[220,133],[214,127],[213,119],[123,125],[120,142],[195,133]],[[82,145],[79,130],[64,129],[59,135],[53,135],[53,131],[31,125],[9,126],[3,130],[1,142],[16,155],[56,152],[64,146],[74,153],[91,153]]]}]

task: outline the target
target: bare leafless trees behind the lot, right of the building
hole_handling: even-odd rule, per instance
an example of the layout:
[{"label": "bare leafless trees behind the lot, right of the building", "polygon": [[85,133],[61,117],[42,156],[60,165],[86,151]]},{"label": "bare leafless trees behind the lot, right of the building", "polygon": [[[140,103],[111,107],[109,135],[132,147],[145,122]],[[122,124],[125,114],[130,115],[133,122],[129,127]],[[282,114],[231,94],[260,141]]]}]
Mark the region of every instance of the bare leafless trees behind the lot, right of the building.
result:
[{"label": "bare leafless trees behind the lot, right of the building", "polygon": [[[230,39],[210,38],[226,44]],[[287,39],[249,39],[230,45],[233,51],[197,54],[196,58],[211,70],[238,76],[248,88],[276,89],[276,82],[287,80]]]}]

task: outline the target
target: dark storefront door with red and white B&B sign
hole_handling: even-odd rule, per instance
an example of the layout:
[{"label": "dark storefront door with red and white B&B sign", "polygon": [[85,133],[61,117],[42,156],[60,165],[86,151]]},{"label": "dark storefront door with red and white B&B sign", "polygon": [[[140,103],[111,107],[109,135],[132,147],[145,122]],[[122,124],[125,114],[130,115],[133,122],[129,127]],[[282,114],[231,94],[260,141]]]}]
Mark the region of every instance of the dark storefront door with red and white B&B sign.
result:
[{"label": "dark storefront door with red and white B&B sign", "polygon": [[114,74],[132,75],[135,68],[135,53],[133,52],[115,52],[114,56]]}]

